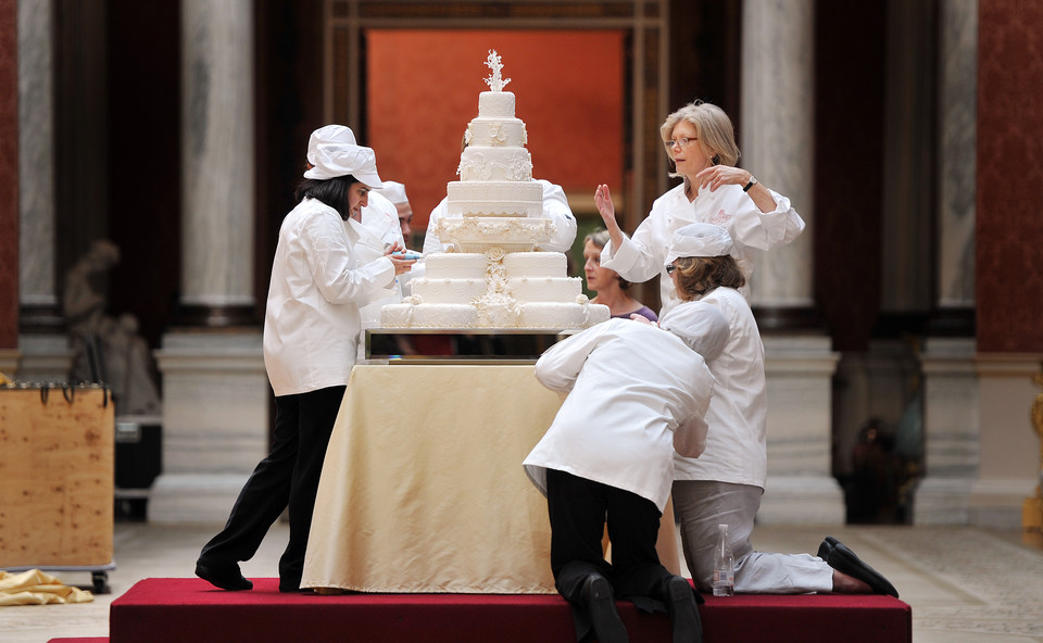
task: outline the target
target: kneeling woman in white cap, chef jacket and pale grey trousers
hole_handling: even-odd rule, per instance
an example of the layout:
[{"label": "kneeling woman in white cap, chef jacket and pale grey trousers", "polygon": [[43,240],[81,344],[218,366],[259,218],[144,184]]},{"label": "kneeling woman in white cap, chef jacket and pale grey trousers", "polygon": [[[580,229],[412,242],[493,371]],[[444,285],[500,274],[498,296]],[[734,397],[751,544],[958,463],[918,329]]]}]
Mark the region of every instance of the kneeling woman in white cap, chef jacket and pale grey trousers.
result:
[{"label": "kneeling woman in white cap, chef jacket and pale grey trousers", "polygon": [[717,526],[727,524],[736,557],[736,592],[897,595],[887,579],[843,545],[846,560],[839,566],[847,573],[831,567],[838,564],[835,556],[825,555],[827,563],[809,554],[753,551],[750,535],[767,478],[767,393],[764,345],[750,304],[738,290],[745,279],[730,256],[733,251],[725,228],[698,223],[674,235],[666,257],[678,298],[691,303],[669,311],[659,319],[661,327],[676,325],[693,304],[713,306],[728,322],[727,343],[708,362],[717,388],[706,412],[706,449],[698,459],[678,452],[674,461],[674,513],[695,587],[711,591]]}]

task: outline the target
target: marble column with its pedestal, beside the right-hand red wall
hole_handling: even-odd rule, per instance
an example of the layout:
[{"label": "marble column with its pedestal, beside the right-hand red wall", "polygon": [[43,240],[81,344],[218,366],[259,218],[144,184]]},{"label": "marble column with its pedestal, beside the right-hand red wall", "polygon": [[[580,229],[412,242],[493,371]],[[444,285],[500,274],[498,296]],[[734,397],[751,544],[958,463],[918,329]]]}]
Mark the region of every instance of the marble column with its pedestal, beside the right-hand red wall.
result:
[{"label": "marble column with its pedestal, beside the right-hand red wall", "polygon": [[[979,378],[973,339],[978,2],[939,5],[938,301],[923,348],[925,472],[914,521],[964,524],[979,465]],[[991,371],[991,369],[990,369]]]}]

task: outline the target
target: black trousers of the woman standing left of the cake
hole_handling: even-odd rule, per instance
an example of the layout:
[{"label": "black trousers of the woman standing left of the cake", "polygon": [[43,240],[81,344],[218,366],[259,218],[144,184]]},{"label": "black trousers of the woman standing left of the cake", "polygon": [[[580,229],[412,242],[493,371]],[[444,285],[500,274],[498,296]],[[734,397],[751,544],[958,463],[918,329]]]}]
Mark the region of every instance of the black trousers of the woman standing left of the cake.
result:
[{"label": "black trousers of the woman standing left of the cake", "polygon": [[203,546],[200,564],[221,567],[249,560],[289,506],[290,542],[279,559],[279,588],[300,585],[318,479],[344,389],[275,399],[272,450],[239,492],[225,528]]}]

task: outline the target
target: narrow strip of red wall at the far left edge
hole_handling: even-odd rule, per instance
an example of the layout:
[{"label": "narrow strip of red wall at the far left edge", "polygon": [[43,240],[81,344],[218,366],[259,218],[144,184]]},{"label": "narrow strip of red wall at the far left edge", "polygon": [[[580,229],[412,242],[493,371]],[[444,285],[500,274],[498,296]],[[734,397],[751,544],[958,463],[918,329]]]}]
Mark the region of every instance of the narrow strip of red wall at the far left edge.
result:
[{"label": "narrow strip of red wall at the far left edge", "polygon": [[17,8],[0,0],[0,349],[18,345]]}]

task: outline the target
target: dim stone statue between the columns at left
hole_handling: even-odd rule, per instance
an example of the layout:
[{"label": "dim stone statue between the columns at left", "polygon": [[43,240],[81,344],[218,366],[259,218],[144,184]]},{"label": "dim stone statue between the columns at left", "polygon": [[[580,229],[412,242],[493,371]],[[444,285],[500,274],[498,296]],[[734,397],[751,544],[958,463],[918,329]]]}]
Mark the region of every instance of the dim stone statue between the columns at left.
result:
[{"label": "dim stone statue between the columns at left", "polygon": [[70,380],[103,382],[120,415],[159,415],[151,351],[134,315],[113,317],[100,282],[120,263],[120,249],[96,240],[65,276],[62,304],[75,356]]}]

